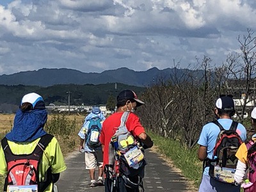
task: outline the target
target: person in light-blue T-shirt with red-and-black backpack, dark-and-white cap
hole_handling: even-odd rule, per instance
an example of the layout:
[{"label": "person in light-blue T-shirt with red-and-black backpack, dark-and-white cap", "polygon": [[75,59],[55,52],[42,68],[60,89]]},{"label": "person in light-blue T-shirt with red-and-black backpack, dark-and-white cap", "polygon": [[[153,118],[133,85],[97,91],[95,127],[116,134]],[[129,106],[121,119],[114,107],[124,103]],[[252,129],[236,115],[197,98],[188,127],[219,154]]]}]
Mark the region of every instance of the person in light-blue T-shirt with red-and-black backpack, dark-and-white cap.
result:
[{"label": "person in light-blue T-shirt with red-and-black backpack, dark-and-white cap", "polygon": [[[216,105],[214,108],[214,115],[218,119],[218,124],[220,124],[223,129],[230,129],[233,120],[232,116],[235,113],[234,100],[230,95],[221,95],[220,98],[216,100]],[[237,134],[241,137],[242,141],[246,140],[246,129],[242,124],[237,125]],[[204,125],[200,138],[198,140],[198,159],[204,161],[205,166],[202,175],[202,181],[199,187],[199,192],[239,192],[240,186],[234,186],[229,183],[220,182],[218,180],[212,179],[209,176],[209,161],[213,159],[214,147],[216,145],[216,140],[220,133],[220,127],[210,122]]]}]

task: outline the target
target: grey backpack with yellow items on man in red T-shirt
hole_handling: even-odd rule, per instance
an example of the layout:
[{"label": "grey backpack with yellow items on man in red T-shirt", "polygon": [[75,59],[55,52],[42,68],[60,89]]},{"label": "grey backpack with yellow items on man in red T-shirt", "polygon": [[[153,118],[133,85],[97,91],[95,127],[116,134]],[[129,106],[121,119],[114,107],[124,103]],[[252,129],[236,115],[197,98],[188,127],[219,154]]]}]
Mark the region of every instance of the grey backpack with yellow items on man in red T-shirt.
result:
[{"label": "grey backpack with yellow items on man in red T-shirt", "polygon": [[[112,147],[115,151],[114,165],[118,166],[116,175],[122,176],[125,186],[129,188],[141,186],[143,189],[142,178],[147,162],[140,143],[135,140],[125,126],[129,113],[129,111],[123,113],[121,124],[112,136],[109,147]],[[109,151],[111,152],[111,150]],[[132,180],[136,181],[132,182]]]}]

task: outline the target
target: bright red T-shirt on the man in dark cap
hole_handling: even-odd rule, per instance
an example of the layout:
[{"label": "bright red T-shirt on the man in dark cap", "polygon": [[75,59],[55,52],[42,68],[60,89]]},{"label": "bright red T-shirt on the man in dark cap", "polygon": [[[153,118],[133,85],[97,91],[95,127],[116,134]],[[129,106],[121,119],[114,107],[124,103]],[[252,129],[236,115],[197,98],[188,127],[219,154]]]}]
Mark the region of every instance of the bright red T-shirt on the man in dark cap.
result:
[{"label": "bright red T-shirt on the man in dark cap", "polygon": [[[104,154],[103,154],[103,164],[109,164],[108,161],[108,149],[111,137],[115,134],[117,128],[121,124],[121,117],[124,112],[114,113],[104,120],[102,124],[102,130],[100,133],[100,143],[104,145]],[[131,134],[138,138],[138,136],[145,132],[145,129],[140,124],[140,118],[134,113],[129,113],[127,121],[125,123],[127,130],[131,132]]]}]

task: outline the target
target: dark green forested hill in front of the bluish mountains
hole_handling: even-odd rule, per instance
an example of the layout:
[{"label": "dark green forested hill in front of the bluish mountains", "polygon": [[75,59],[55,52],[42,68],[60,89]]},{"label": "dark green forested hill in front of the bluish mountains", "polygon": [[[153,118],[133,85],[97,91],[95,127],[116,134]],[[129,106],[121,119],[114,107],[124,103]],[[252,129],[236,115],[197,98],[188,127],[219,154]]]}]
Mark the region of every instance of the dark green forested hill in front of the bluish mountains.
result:
[{"label": "dark green forested hill in front of the bluish mountains", "polygon": [[[134,90],[140,94],[145,90],[143,87],[129,86],[121,83],[106,83],[106,84],[58,84],[48,87],[40,86],[6,86],[0,85],[0,110],[3,105],[13,104],[19,106],[23,95],[30,92],[36,92],[45,100],[45,104],[68,104],[68,92],[70,92],[70,105],[81,104],[106,104],[109,96],[115,99],[119,92],[124,89]],[[8,106],[10,107],[10,106]]]}]

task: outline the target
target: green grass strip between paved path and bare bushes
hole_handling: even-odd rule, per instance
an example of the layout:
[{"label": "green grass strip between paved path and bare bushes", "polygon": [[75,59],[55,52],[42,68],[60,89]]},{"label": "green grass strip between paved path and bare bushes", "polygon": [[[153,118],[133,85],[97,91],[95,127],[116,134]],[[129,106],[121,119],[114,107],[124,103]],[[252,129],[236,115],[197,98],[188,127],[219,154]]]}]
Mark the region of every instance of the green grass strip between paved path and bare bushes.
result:
[{"label": "green grass strip between paved path and bare bushes", "polygon": [[191,180],[195,188],[198,188],[202,177],[202,162],[197,158],[198,148],[188,150],[180,145],[179,141],[164,138],[153,132],[148,132],[148,134],[154,141],[154,145],[157,146],[159,153],[170,158],[175,167],[182,171],[182,175]]}]

